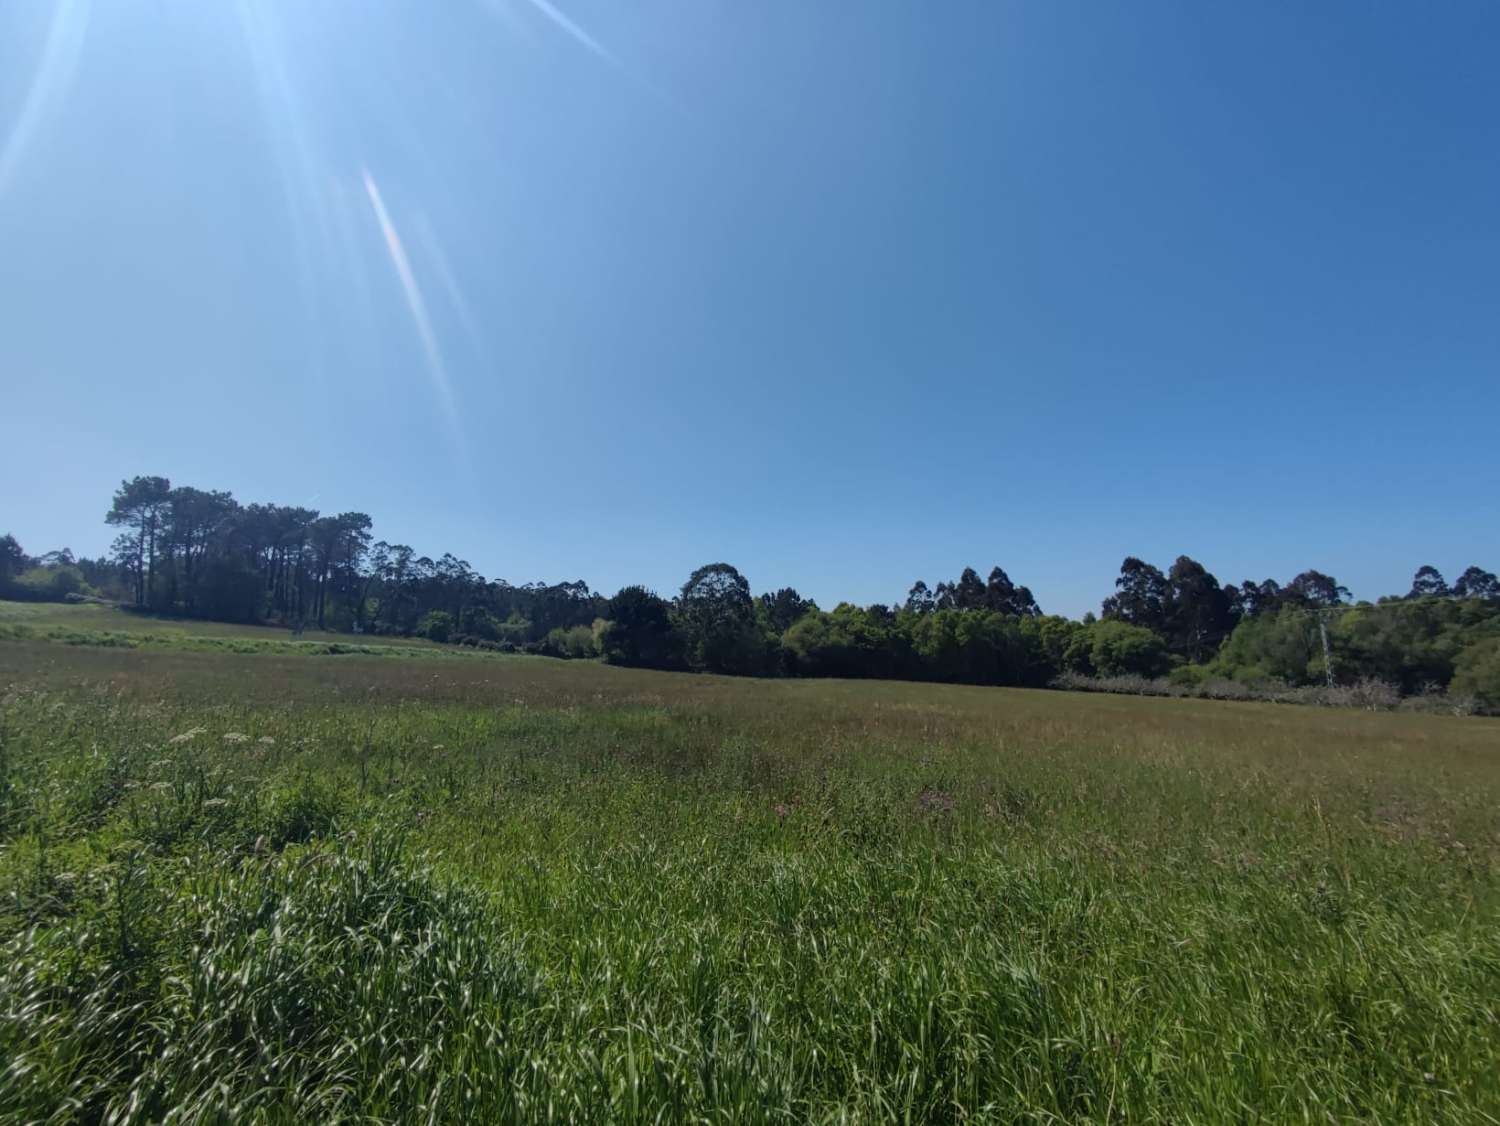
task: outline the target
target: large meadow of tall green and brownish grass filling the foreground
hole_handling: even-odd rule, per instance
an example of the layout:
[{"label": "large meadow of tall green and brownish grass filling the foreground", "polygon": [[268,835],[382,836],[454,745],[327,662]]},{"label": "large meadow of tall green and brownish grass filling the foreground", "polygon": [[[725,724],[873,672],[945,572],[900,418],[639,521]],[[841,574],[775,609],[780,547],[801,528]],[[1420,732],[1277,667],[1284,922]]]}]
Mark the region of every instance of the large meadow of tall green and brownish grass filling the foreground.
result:
[{"label": "large meadow of tall green and brownish grass filling the foreground", "polygon": [[0,643],[0,1119],[1497,1122],[1500,721]]}]

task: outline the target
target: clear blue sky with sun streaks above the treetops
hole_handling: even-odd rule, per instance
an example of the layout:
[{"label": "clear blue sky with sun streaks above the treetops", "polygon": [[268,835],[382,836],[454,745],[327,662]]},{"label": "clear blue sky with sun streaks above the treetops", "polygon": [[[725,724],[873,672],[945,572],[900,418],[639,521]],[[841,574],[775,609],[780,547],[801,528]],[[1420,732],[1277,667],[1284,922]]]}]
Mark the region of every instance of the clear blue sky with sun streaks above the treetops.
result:
[{"label": "clear blue sky with sun streaks above the treetops", "polygon": [[0,531],[824,604],[1500,568],[1500,6],[9,0]]}]

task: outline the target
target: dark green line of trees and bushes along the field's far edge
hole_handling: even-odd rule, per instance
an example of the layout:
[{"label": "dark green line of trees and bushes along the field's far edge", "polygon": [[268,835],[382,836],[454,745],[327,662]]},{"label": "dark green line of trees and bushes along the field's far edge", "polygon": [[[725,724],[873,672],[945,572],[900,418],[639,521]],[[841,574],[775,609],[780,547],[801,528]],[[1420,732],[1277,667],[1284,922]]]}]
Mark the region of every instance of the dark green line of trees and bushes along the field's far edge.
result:
[{"label": "dark green line of trees and bushes along the field's far edge", "polygon": [[513,585],[375,540],[364,513],[240,504],[164,477],[123,481],[105,520],[118,535],[100,559],[33,558],[0,538],[0,597],[752,676],[1226,697],[1358,687],[1500,709],[1500,579],[1478,565],[1452,583],[1422,565],[1410,591],[1356,603],[1316,570],[1221,583],[1186,555],[1166,570],[1131,556],[1100,613],[1074,621],[1044,613],[998,565],[831,610],[792,588],[754,595],[726,562],[670,598],[644,586],[606,597],[582,579]]}]

